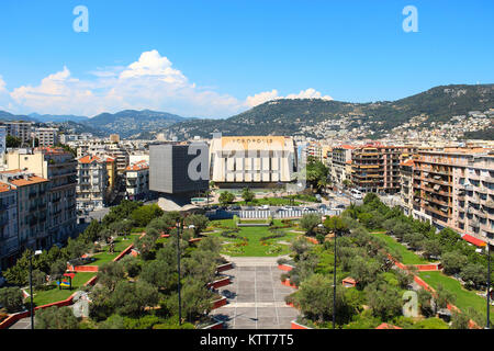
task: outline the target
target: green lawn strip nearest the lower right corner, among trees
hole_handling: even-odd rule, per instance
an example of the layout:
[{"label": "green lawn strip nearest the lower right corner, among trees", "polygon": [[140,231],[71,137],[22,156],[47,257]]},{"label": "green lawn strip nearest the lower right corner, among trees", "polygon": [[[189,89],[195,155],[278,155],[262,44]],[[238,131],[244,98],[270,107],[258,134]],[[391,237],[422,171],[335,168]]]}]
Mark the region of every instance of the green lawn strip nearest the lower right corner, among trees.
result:
[{"label": "green lawn strip nearest the lower right corner, among trees", "polygon": [[[418,275],[430,286],[437,290],[441,284],[447,291],[457,296],[454,306],[461,310],[467,310],[469,306],[475,308],[481,314],[486,314],[487,302],[485,298],[475,294],[474,291],[465,290],[459,281],[452,279],[442,272],[419,272]],[[494,313],[494,307],[491,306],[491,314]]]}]

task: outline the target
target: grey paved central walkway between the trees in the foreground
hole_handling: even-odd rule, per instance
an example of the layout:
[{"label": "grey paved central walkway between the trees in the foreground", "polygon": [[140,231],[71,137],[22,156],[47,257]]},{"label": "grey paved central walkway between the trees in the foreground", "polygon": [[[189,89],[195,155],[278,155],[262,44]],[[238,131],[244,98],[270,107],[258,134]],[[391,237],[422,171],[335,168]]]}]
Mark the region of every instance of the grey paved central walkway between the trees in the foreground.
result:
[{"label": "grey paved central walkway between the trees in the foreground", "polygon": [[234,269],[224,272],[232,284],[218,290],[228,304],[211,315],[225,321],[226,329],[290,329],[299,310],[284,297],[295,290],[281,284],[278,258],[228,258]]}]

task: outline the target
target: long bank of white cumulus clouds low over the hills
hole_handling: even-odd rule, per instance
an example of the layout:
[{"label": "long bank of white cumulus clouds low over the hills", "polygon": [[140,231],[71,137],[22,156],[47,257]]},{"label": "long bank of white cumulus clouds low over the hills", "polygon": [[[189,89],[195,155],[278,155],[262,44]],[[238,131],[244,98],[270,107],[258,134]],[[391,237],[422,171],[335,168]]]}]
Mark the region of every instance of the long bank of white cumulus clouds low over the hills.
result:
[{"label": "long bank of white cumulus clouds low over the hills", "polygon": [[[37,86],[22,86],[9,92],[0,77],[0,98],[8,93],[15,113],[85,114],[124,109],[150,109],[183,116],[227,117],[269,100],[283,99],[278,90],[260,92],[246,100],[221,94],[210,87],[197,87],[157,50],[142,53],[127,66],[97,68],[89,79],[72,77],[64,68],[42,79]],[[285,99],[326,99],[314,89],[289,94]],[[0,103],[2,100],[0,99]]]}]

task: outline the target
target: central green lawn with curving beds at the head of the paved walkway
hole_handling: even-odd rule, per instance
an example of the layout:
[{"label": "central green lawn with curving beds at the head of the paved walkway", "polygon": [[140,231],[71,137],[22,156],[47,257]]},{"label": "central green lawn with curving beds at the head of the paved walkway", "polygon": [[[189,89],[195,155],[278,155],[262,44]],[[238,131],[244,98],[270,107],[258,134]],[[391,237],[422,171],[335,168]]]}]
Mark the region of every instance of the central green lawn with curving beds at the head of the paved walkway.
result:
[{"label": "central green lawn with curving beds at the head of the paved walkway", "polygon": [[[233,219],[224,219],[224,220],[215,220],[216,223],[221,223],[223,226],[234,227],[235,224]],[[281,220],[274,220],[274,225],[282,225]],[[290,253],[290,246],[279,244],[279,241],[291,242],[294,238],[296,238],[300,234],[290,233],[290,228],[279,229],[284,233],[283,237],[273,238],[266,240],[262,245],[260,242],[260,238],[272,235],[273,233],[268,229],[269,227],[242,227],[237,233],[239,237],[247,238],[247,245],[242,246],[244,242],[243,239],[234,239],[234,238],[225,238],[221,236],[221,233],[212,233],[207,234],[209,236],[215,236],[222,239],[223,241],[228,241],[223,246],[222,253],[228,256],[237,256],[237,257],[276,257],[280,254]]]}]

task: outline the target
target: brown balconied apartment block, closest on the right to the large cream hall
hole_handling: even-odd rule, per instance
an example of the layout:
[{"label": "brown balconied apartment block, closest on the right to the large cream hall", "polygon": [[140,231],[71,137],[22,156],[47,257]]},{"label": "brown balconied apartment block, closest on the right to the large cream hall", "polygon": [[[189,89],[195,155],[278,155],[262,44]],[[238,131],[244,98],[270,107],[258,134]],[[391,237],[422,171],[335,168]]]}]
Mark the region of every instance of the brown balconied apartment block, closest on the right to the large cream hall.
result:
[{"label": "brown balconied apartment block, closest on the right to the large cream hall", "polygon": [[364,193],[397,193],[401,189],[400,163],[415,150],[414,147],[380,143],[357,147],[351,155],[351,182]]}]

